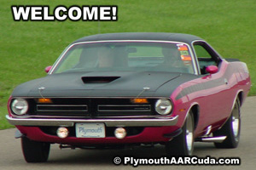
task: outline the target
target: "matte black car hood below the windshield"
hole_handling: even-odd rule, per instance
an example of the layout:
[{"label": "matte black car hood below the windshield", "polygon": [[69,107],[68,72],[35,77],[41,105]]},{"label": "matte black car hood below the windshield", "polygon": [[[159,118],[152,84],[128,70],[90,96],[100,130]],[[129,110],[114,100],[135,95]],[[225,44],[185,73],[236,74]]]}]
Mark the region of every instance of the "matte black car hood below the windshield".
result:
[{"label": "matte black car hood below the windshield", "polygon": [[[108,97],[137,96],[147,88],[142,96],[158,96],[156,91],[164,84],[176,82],[181,73],[151,71],[114,71],[114,72],[73,72],[53,74],[25,82],[15,88],[14,97]],[[182,81],[183,82],[183,81]],[[170,86],[169,93],[180,83]],[[172,84],[172,83],[171,83]]]}]

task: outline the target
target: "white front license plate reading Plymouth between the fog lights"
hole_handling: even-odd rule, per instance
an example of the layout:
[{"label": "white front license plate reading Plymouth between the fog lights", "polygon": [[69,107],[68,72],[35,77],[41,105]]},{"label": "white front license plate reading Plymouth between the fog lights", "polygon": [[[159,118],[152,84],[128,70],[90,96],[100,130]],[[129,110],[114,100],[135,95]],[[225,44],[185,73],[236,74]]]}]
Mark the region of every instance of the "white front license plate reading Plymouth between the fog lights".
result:
[{"label": "white front license plate reading Plymouth between the fog lights", "polygon": [[104,123],[76,123],[77,138],[105,138]]}]

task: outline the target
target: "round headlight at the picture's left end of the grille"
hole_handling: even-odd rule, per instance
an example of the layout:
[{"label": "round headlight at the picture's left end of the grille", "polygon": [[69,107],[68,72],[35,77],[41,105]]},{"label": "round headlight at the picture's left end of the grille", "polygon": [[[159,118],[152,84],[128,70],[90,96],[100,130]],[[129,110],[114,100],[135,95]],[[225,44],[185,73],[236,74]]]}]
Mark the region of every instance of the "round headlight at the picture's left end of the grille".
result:
[{"label": "round headlight at the picture's left end of the grille", "polygon": [[16,115],[25,115],[28,110],[28,104],[25,99],[14,99],[11,109]]}]

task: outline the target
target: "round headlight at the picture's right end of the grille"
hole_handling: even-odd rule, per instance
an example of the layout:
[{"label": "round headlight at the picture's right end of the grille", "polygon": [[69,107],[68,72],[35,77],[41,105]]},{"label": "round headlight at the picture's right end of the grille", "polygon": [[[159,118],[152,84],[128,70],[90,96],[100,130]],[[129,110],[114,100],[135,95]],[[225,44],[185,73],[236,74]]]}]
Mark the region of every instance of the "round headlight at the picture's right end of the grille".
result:
[{"label": "round headlight at the picture's right end of the grille", "polygon": [[167,115],[172,111],[172,103],[169,99],[158,99],[155,103],[155,111],[160,115]]}]

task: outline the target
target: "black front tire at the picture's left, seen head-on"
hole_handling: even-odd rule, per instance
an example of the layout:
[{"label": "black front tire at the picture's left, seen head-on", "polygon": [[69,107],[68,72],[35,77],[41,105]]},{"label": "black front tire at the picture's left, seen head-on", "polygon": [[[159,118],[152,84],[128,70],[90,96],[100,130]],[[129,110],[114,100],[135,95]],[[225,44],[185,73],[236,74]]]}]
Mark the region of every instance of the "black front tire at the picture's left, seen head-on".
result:
[{"label": "black front tire at the picture's left, seen head-on", "polygon": [[48,160],[49,143],[36,142],[23,137],[21,138],[21,147],[27,162],[44,162]]}]

